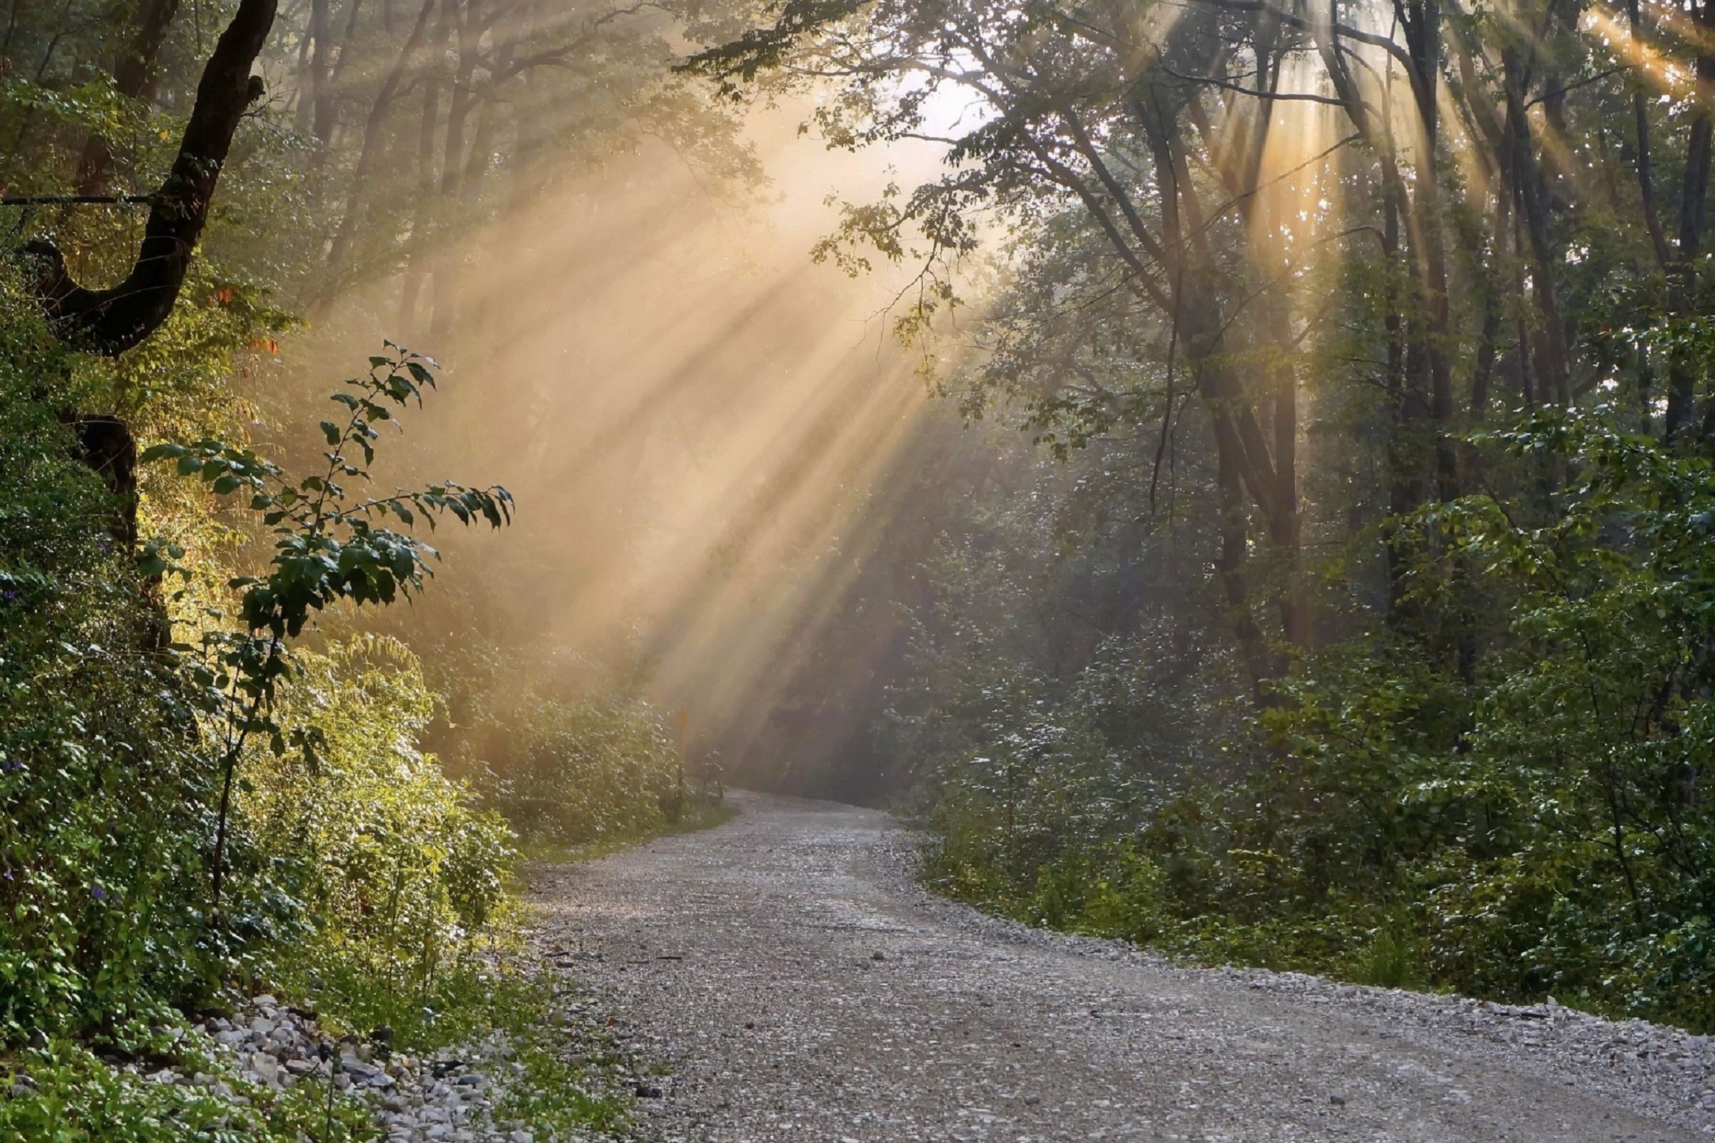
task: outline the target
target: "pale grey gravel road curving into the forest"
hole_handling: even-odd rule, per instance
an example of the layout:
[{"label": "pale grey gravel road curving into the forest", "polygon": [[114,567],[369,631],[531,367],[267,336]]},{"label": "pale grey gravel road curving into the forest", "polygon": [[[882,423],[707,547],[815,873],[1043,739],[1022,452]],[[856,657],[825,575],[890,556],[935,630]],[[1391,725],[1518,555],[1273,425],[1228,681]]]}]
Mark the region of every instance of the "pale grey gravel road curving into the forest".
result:
[{"label": "pale grey gravel road curving into the forest", "polygon": [[719,829],[533,876],[544,956],[671,1069],[647,1138],[1715,1136],[1708,1037],[1178,968],[931,898],[885,814],[737,800]]}]

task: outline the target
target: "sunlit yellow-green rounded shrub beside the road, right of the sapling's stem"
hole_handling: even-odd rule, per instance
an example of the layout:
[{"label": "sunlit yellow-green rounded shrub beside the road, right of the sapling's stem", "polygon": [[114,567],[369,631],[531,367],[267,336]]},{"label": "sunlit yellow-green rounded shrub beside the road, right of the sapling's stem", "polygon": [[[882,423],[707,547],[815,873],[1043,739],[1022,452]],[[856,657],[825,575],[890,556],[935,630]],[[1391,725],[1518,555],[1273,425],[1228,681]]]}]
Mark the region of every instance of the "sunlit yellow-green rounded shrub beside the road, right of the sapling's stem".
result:
[{"label": "sunlit yellow-green rounded shrub beside the road, right of the sapling's stem", "polygon": [[504,903],[513,835],[417,742],[434,696],[412,651],[355,636],[300,651],[281,721],[312,752],[249,759],[240,802],[261,853],[290,877],[319,956],[388,987],[425,987]]}]

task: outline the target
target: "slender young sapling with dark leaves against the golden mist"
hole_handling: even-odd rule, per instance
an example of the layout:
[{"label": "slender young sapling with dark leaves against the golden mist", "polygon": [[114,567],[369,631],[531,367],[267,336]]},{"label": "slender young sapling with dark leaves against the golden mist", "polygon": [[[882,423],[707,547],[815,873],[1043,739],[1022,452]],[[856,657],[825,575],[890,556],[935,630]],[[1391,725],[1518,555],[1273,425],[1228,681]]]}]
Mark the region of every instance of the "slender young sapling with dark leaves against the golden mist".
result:
[{"label": "slender young sapling with dark leaves against the golden mist", "polygon": [[[499,485],[475,488],[448,480],[420,490],[396,488],[391,495],[369,492],[379,427],[394,420],[396,408],[413,401],[422,406],[424,389],[436,384],[432,367],[430,358],[393,343],[386,353],[370,356],[369,374],[346,380],[331,398],[345,415],[343,423],[321,423],[328,439],[322,452],[328,464],[321,473],[295,478],[247,447],[214,439],[158,444],[141,458],[142,463],[170,459],[182,476],[202,480],[214,495],[240,499],[274,536],[268,571],[228,583],[242,593],[240,625],[216,624],[206,631],[201,658],[192,660],[190,668],[221,745],[211,862],[216,913],[233,778],[245,744],[252,735],[268,735],[276,754],[297,749],[314,757],[317,749],[314,732],[288,732],[273,716],[276,691],[292,673],[290,641],[316,612],[340,600],[357,607],[386,605],[418,591],[434,574],[430,560],[439,559],[432,547],[410,535],[418,523],[430,530],[441,516],[453,516],[461,524],[482,519],[490,528],[511,523],[513,495]],[[403,530],[389,526],[393,521]],[[144,572],[177,571],[173,560],[182,555],[180,548],[154,542],[144,552]]]}]

